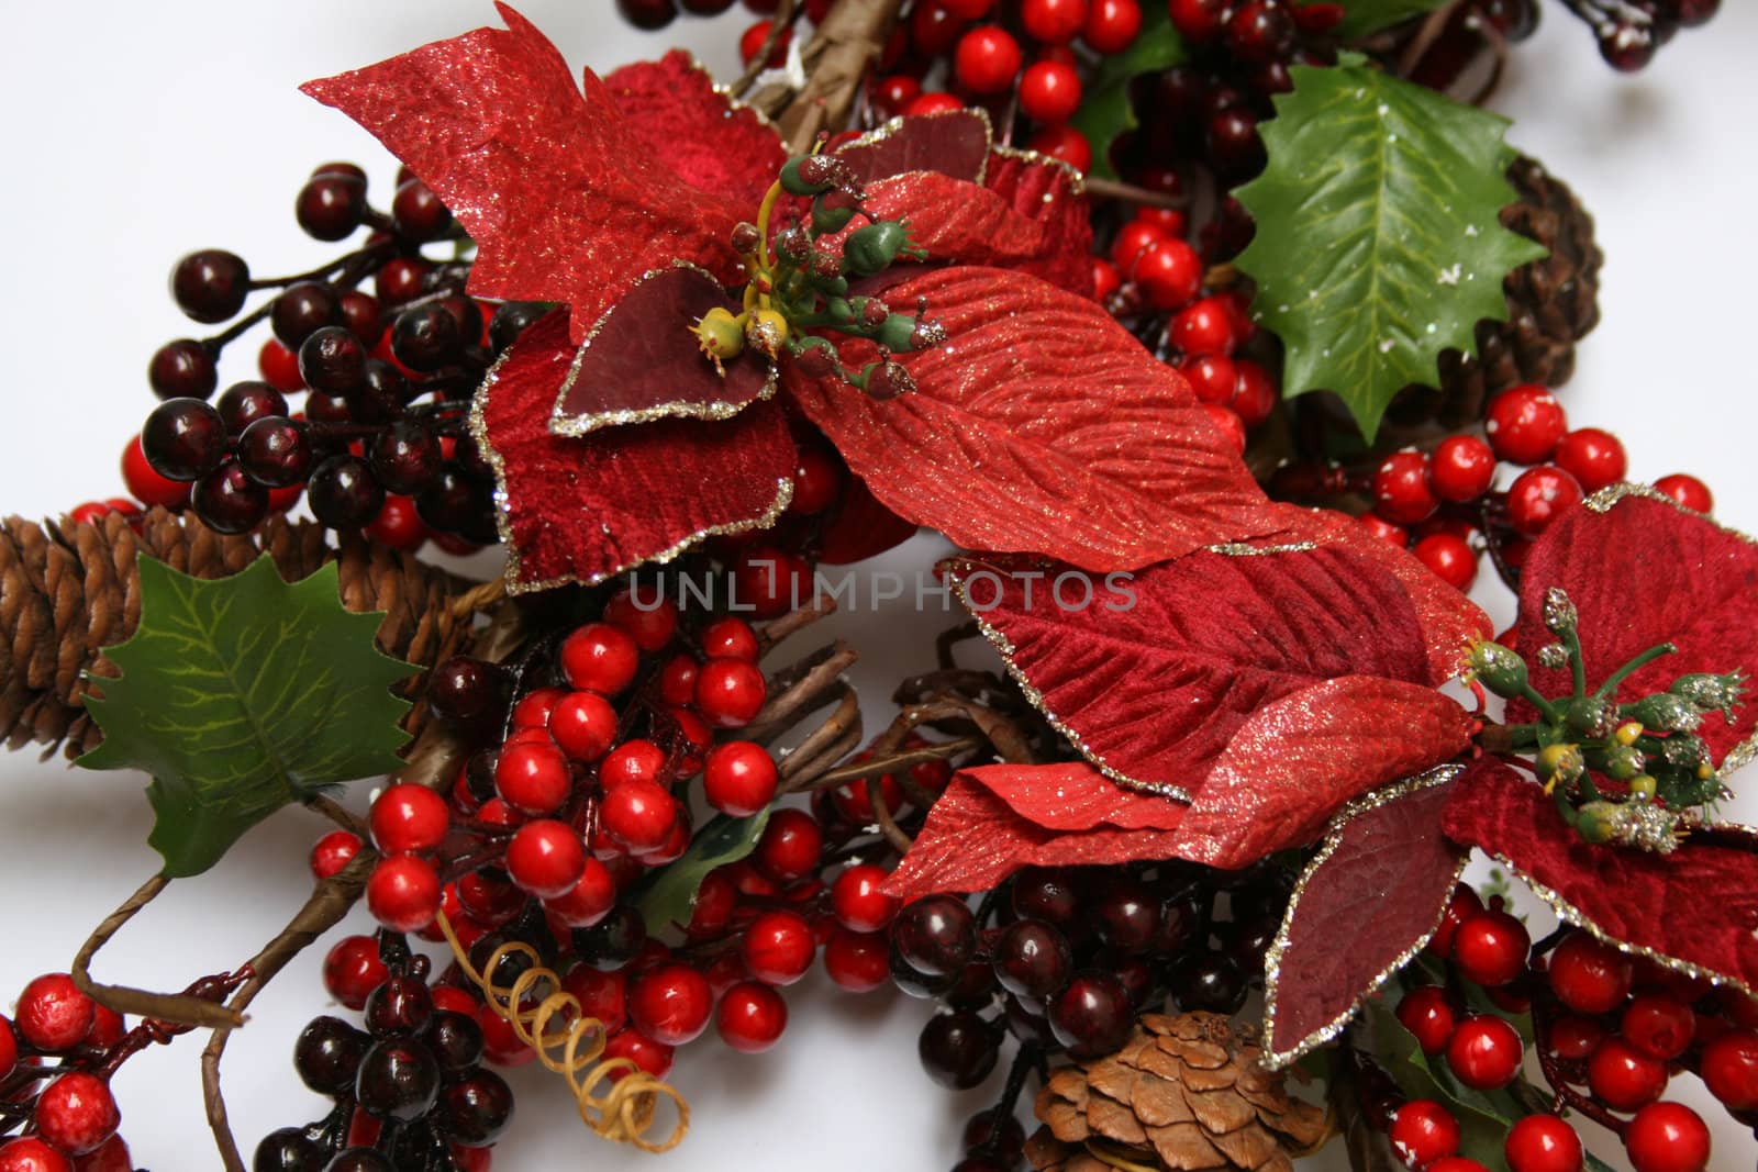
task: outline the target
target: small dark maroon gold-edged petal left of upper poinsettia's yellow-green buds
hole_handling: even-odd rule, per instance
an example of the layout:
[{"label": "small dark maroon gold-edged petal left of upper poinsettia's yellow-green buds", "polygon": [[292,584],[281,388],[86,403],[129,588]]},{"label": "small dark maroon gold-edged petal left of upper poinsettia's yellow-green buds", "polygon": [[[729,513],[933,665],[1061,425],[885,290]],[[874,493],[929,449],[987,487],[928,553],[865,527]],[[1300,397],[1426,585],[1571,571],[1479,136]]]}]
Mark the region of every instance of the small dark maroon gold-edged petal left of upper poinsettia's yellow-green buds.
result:
[{"label": "small dark maroon gold-edged petal left of upper poinsettia's yellow-green buds", "polygon": [[556,395],[550,430],[724,420],[774,394],[774,367],[756,353],[719,367],[701,353],[689,327],[710,309],[737,304],[701,269],[672,265],[642,278],[587,334]]}]

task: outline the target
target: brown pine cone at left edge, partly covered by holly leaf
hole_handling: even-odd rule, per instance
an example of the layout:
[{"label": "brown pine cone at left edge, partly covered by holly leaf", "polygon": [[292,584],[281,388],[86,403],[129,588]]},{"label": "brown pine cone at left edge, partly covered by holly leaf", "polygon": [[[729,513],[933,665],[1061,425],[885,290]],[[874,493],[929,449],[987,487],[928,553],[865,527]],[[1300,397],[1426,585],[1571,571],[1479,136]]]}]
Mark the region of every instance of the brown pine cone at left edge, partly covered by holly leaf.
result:
[{"label": "brown pine cone at left edge, partly covered by holly leaf", "polygon": [[[100,648],[127,640],[141,620],[137,555],[197,578],[223,578],[260,552],[290,582],[338,561],[343,604],[387,611],[378,647],[389,655],[427,666],[462,634],[450,599],[466,583],[360,538],[332,548],[311,522],[276,518],[255,534],[229,538],[195,517],[156,508],[141,518],[139,532],[120,513],[44,525],[9,517],[0,522],[0,731],[7,747],[40,742],[49,756],[65,742],[76,757],[102,740],[84,712],[84,673],[114,675]],[[422,712],[417,706],[411,722]]]}]

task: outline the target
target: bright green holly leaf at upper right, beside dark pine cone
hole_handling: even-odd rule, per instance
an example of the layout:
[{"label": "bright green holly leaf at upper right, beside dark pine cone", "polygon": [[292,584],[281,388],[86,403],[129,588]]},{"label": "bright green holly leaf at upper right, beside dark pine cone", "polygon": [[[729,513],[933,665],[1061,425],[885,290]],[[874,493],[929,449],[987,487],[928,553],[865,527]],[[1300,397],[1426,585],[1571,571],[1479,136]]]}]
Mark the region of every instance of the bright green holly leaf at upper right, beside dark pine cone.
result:
[{"label": "bright green holly leaf at upper right, beside dark pine cone", "polygon": [[1264,123],[1269,165],[1236,195],[1257,220],[1238,267],[1285,348],[1283,394],[1333,390],[1369,441],[1442,350],[1507,318],[1501,279],[1545,250],[1501,227],[1505,118],[1387,77],[1361,54],[1297,65]]}]

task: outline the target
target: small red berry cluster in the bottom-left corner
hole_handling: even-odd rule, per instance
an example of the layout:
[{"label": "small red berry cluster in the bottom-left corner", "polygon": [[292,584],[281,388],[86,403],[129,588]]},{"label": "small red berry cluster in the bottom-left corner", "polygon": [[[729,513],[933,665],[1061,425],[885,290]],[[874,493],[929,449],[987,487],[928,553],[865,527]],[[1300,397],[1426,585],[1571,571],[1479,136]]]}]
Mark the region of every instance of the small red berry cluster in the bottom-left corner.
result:
[{"label": "small red berry cluster in the bottom-left corner", "polygon": [[134,1167],[109,1089],[111,1056],[125,1031],[121,1014],[81,993],[67,973],[25,986],[11,1021],[0,1017],[0,1133],[28,1135],[0,1140],[0,1172]]}]

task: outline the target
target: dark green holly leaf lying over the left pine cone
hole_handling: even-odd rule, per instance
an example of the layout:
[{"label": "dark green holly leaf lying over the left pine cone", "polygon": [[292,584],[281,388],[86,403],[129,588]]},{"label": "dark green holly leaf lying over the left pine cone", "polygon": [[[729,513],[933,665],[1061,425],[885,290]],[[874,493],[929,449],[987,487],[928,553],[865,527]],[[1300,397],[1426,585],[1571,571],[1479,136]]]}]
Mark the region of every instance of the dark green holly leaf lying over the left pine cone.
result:
[{"label": "dark green holly leaf lying over the left pine cone", "polygon": [[202,582],[142,557],[141,626],[105,655],[86,710],[88,770],[146,770],[163,875],[199,875],[239,835],[338,782],[396,770],[417,668],[374,645],[383,613],[350,613],[329,564],[287,583],[262,555]]}]

